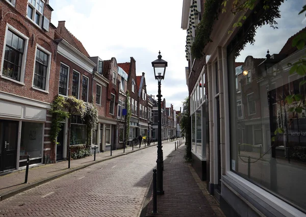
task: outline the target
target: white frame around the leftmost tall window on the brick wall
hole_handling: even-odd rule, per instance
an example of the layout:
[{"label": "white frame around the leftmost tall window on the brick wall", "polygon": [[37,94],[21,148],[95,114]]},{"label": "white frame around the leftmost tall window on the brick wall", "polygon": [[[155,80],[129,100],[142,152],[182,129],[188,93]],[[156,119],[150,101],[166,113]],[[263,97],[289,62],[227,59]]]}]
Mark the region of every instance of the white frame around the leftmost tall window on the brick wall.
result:
[{"label": "white frame around the leftmost tall window on the brick wall", "polygon": [[[6,40],[7,40],[7,34],[8,34],[9,30],[11,32],[15,33],[16,35],[18,35],[20,38],[22,38],[24,40],[24,50],[23,50],[21,70],[20,70],[20,82],[18,82],[18,80],[14,80],[10,77],[2,75],[3,64],[4,64],[4,56],[5,56]],[[28,44],[29,44],[29,38],[27,36],[23,35],[22,33],[20,33],[18,30],[13,28],[13,26],[11,26],[10,24],[7,23],[6,31],[5,31],[5,37],[4,37],[4,43],[3,43],[3,54],[2,54],[2,63],[1,63],[1,69],[0,69],[0,77],[24,86],[25,63],[27,62]]]}]

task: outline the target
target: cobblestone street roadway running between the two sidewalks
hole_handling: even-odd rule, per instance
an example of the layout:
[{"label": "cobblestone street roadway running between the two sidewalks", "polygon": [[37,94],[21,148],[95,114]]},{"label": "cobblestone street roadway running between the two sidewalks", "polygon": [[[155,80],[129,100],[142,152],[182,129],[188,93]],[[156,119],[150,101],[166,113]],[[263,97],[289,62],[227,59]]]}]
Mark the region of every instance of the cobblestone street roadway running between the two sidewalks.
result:
[{"label": "cobblestone street roadway running between the two sidewalks", "polygon": [[156,159],[153,146],[100,162],[0,202],[0,216],[139,216]]}]

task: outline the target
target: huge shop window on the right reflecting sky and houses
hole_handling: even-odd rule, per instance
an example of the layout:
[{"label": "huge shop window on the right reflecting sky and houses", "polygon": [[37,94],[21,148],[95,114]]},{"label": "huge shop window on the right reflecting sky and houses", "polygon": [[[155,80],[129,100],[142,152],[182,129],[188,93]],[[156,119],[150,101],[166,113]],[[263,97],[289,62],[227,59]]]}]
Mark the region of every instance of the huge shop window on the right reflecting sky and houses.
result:
[{"label": "huge shop window on the right reflecting sky and houses", "polygon": [[227,60],[232,171],[305,211],[306,66],[300,63],[306,48],[298,40],[306,40],[305,12],[298,15],[303,6],[301,0],[282,3],[277,29],[258,28],[254,44],[240,53],[237,33]]}]

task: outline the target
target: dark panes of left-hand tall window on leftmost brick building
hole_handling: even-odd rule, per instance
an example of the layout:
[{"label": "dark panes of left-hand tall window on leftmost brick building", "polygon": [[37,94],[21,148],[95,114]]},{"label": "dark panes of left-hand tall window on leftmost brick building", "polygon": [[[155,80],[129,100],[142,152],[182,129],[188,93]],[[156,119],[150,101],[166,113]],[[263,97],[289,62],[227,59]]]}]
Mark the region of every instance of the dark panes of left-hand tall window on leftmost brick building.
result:
[{"label": "dark panes of left-hand tall window on leftmost brick building", "polygon": [[4,76],[20,82],[23,51],[24,39],[8,30],[2,71]]}]

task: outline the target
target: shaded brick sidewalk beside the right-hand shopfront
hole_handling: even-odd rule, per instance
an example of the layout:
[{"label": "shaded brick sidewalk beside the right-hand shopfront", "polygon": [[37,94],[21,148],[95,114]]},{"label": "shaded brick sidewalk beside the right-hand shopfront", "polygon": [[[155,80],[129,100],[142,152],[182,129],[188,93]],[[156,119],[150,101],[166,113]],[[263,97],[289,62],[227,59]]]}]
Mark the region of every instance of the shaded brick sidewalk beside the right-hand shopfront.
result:
[{"label": "shaded brick sidewalk beside the right-hand shopfront", "polygon": [[201,181],[191,165],[185,162],[186,146],[173,151],[164,161],[165,194],[157,196],[157,214],[152,214],[152,192],[146,216],[222,216],[217,200],[209,195],[206,182]]}]

